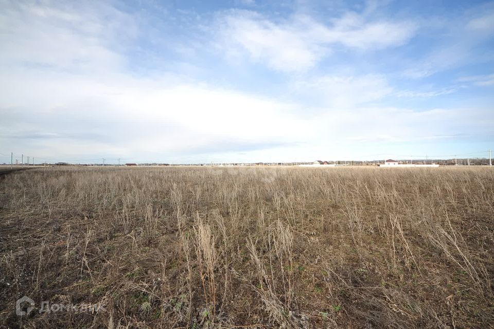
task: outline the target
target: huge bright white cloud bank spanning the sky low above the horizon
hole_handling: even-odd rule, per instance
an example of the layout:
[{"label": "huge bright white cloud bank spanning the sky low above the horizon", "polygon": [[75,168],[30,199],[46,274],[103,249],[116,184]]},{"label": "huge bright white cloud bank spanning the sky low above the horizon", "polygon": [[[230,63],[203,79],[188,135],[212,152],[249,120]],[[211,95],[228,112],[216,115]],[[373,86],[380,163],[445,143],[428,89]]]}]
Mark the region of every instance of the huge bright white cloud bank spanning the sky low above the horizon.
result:
[{"label": "huge bright white cloud bank spanning the sky low above the horizon", "polygon": [[[0,86],[0,141],[39,158],[195,156],[192,161],[208,160],[204,154],[233,160],[232,153],[248,153],[246,161],[267,161],[274,154],[279,160],[307,160],[316,155],[311,150],[337,152],[358,142],[488,136],[494,124],[485,108],[416,112],[365,105],[392,93],[379,76],[327,76],[301,86],[327,93],[320,108],[173,77],[79,77],[24,69],[12,76],[4,72],[3,78],[9,83]],[[26,87],[36,92],[22,97]]]}]

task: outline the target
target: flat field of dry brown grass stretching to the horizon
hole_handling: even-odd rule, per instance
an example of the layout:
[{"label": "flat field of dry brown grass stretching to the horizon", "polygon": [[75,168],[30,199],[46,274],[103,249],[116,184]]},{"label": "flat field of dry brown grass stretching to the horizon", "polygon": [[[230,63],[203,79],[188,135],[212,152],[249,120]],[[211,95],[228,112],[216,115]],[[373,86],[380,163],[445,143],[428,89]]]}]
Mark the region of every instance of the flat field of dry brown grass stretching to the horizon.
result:
[{"label": "flat field of dry brown grass stretching to the horizon", "polygon": [[491,168],[42,168],[0,207],[5,327],[494,323]]}]

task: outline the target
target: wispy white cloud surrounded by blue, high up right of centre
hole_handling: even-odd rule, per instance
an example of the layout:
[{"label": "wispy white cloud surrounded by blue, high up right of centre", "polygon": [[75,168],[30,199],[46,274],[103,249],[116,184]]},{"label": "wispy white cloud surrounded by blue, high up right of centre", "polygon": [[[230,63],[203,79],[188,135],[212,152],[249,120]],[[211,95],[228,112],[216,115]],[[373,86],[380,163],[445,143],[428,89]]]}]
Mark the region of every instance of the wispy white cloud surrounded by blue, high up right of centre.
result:
[{"label": "wispy white cloud surrounded by blue, high up right of centre", "polygon": [[367,22],[363,16],[347,14],[330,25],[306,15],[274,22],[256,12],[234,10],[218,23],[221,51],[247,57],[280,71],[305,71],[315,66],[333,49],[358,50],[399,46],[414,34],[410,22]]}]

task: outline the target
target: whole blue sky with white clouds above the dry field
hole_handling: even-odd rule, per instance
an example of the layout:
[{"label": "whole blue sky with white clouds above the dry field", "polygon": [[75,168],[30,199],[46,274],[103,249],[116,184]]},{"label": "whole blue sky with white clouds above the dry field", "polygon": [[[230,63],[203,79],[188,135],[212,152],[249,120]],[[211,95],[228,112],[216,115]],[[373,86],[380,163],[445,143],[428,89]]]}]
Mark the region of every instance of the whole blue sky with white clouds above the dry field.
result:
[{"label": "whole blue sky with white clouds above the dry field", "polygon": [[0,49],[0,163],[494,149],[494,2],[0,0]]}]

